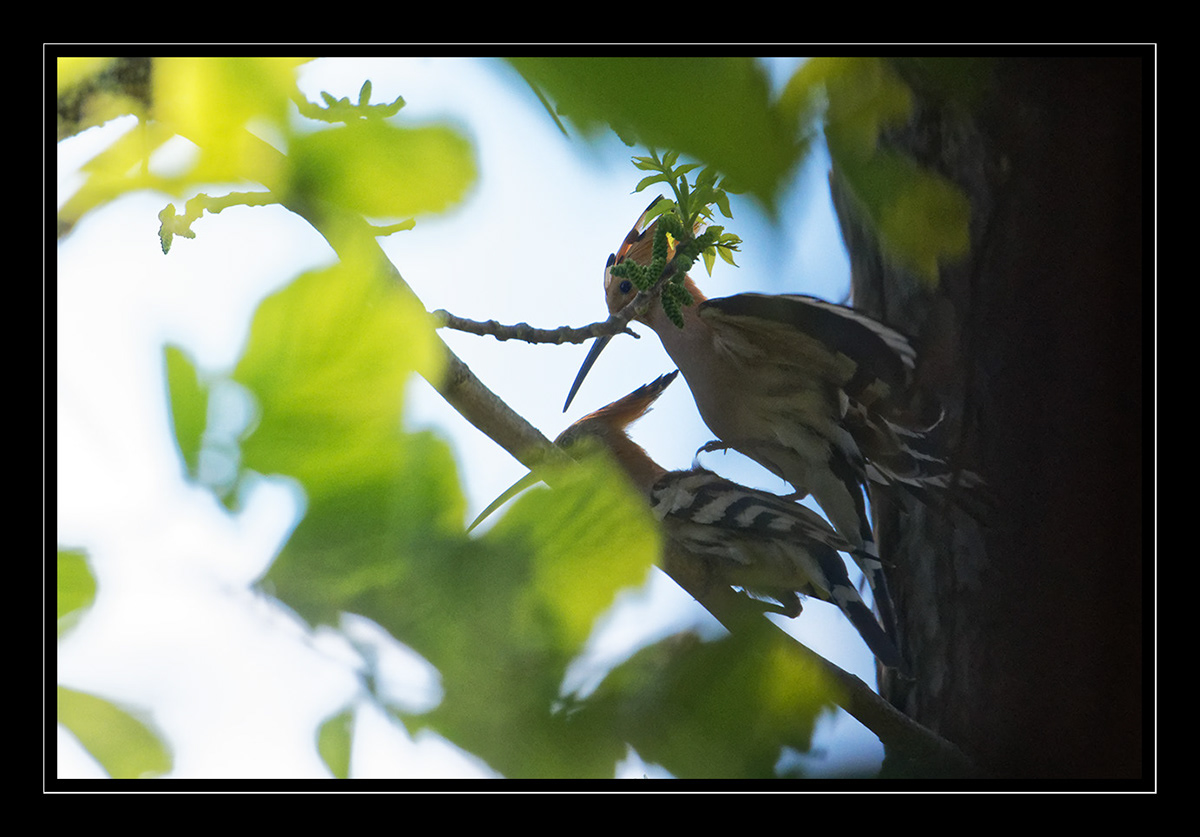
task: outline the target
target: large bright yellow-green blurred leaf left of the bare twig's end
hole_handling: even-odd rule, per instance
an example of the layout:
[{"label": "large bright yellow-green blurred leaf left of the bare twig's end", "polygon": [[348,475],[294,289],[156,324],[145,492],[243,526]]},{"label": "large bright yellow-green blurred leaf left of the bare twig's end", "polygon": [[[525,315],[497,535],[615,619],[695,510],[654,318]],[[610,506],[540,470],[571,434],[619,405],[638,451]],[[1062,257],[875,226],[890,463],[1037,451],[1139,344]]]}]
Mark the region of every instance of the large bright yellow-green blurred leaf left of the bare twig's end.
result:
[{"label": "large bright yellow-green blurred leaf left of the bare twig's end", "polygon": [[259,409],[245,466],[300,480],[310,500],[390,481],[404,386],[440,362],[424,308],[367,255],[299,277],[259,306],[234,371]]}]

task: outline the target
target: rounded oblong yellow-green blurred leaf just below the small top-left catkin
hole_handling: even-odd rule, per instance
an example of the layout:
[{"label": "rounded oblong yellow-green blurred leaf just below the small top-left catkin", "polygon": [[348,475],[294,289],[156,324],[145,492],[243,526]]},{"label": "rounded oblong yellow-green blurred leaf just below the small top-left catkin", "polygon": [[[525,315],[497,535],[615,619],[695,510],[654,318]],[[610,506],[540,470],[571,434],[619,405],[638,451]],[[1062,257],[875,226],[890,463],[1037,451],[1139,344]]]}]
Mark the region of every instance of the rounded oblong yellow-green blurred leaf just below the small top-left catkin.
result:
[{"label": "rounded oblong yellow-green blurred leaf just below the small top-left catkin", "polygon": [[475,181],[470,143],[446,126],[362,120],[295,139],[292,191],[373,218],[442,212]]}]

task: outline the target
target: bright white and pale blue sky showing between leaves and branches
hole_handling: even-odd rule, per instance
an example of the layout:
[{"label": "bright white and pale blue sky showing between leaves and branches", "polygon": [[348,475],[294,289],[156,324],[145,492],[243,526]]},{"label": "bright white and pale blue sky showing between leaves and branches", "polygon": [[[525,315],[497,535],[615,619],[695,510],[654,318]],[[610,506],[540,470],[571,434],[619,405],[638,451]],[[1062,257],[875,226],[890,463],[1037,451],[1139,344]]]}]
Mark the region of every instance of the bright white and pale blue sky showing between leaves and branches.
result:
[{"label": "bright white and pale blue sky showing between leaves and branches", "polygon": [[[782,82],[797,60],[768,64]],[[367,78],[373,102],[404,97],[397,120],[449,120],[475,145],[479,181],[466,201],[384,240],[425,306],[542,327],[604,319],[605,259],[653,197],[631,193],[642,173],[629,158],[644,150],[614,138],[599,146],[568,140],[498,61],[319,60],[301,71],[300,84],[311,101],[322,90],[355,100]],[[78,167],[125,125],[59,144],[60,203],[78,183]],[[734,217],[724,223],[744,241],[739,267],[718,260],[713,277],[698,267],[694,278],[709,296],[762,290],[842,300],[850,269],[827,169],[822,149],[785,197],[786,229],[772,228],[750,201],[734,198]],[[184,481],[167,417],[162,344],[182,345],[203,369],[228,369],[258,301],[331,253],[286,210],[235,207],[205,216],[193,225],[194,240],[176,237],[163,255],[156,216],[168,200],[125,197],[86,217],[58,251],[58,543],[86,548],[100,582],[92,610],[59,646],[59,682],[145,710],[173,748],[170,776],[328,776],[314,731],[361,694],[355,655],[332,632],[313,638],[251,590],[295,523],[294,498],[266,481],[230,518]],[[580,206],[586,215],[575,213]],[[529,264],[554,265],[557,272],[529,273]],[[635,327],[642,339],[616,338],[566,415],[563,399],[587,345],[440,335],[488,387],[553,438],[673,368],[654,333]],[[413,427],[436,427],[451,440],[469,517],[524,474],[420,379],[407,415]],[[634,436],[667,468],[689,466],[710,439],[683,380],[634,427]],[[704,464],[748,484],[787,490],[738,454],[706,454]],[[646,596],[631,600],[628,607],[641,614],[620,621],[625,633],[610,632],[598,643],[601,657],[707,619],[661,573]],[[818,654],[875,681],[870,652],[833,607],[811,602],[797,620],[784,621]],[[436,704],[436,674],[365,622],[347,626],[377,643],[386,670],[395,672],[396,694],[413,707]],[[352,776],[493,775],[437,736],[414,741],[370,701],[356,706]],[[839,713],[818,727],[814,753],[804,758],[809,769],[834,772],[877,763],[882,747]],[[103,776],[61,728],[58,759],[60,777]],[[631,754],[617,775],[662,771]]]}]

